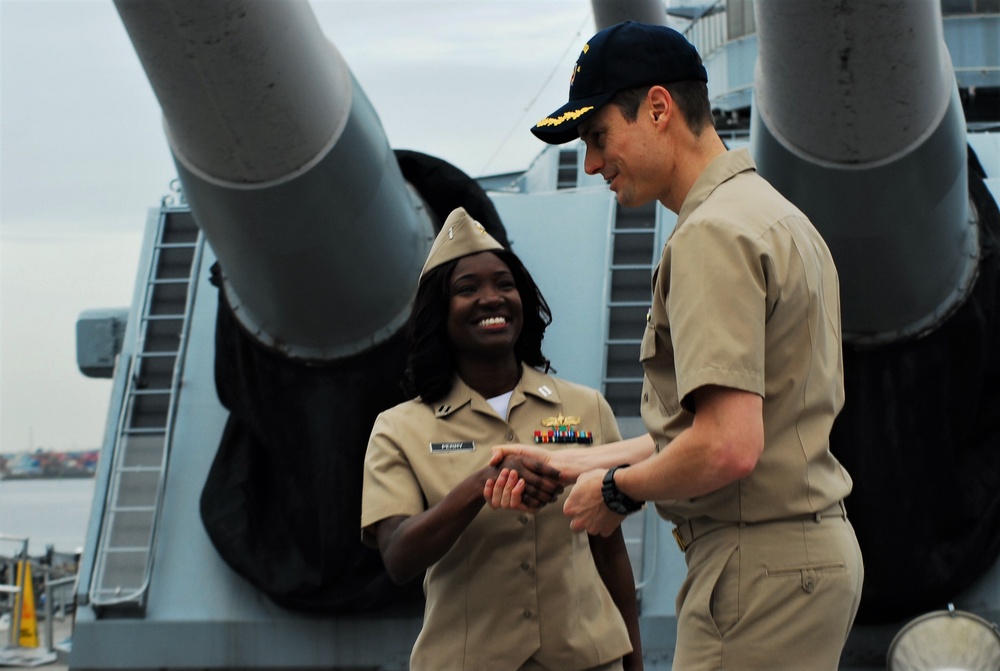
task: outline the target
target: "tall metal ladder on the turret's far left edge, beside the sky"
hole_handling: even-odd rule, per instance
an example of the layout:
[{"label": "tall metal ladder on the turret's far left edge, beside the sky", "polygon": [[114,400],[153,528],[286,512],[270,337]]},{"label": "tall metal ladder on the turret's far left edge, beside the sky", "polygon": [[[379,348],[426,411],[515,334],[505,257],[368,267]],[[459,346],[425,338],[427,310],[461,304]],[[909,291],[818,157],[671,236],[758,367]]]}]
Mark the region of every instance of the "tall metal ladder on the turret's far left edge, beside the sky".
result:
[{"label": "tall metal ladder on the turret's far left edge, beside the sky", "polygon": [[201,249],[190,211],[164,206],[127,362],[89,592],[99,611],[145,612]]}]

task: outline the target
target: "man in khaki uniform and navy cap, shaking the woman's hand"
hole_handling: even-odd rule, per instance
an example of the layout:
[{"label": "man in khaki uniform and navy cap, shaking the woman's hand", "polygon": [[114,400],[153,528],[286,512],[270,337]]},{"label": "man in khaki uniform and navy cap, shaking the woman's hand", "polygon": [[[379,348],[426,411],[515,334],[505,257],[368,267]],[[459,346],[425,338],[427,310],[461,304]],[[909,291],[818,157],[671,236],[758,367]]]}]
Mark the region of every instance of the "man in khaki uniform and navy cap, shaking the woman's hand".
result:
[{"label": "man in khaki uniform and navy cap, shaking the woman's hand", "polygon": [[[863,580],[851,479],[829,449],[844,401],[836,268],[749,152],[726,149],[706,82],[679,33],[619,24],[591,38],[570,101],[532,128],[581,138],[620,204],[678,214],[640,355],[649,434],[540,460],[576,480],[576,530],[607,533],[644,500],[676,524],[688,574],[674,669],[835,671]],[[497,484],[493,505],[517,505]]]}]

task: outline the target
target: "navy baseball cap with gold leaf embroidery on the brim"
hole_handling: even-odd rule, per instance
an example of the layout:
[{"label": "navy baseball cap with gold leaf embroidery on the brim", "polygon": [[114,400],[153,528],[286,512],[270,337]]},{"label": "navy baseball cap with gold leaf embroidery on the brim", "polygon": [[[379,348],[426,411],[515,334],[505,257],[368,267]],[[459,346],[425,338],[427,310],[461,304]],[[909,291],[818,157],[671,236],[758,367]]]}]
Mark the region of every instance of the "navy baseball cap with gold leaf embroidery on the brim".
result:
[{"label": "navy baseball cap with gold leaf embroidery on the brim", "polygon": [[577,126],[623,89],[671,82],[708,81],[698,50],[666,26],[625,21],[605,28],[583,46],[569,80],[569,102],[531,132],[549,144],[578,138]]}]

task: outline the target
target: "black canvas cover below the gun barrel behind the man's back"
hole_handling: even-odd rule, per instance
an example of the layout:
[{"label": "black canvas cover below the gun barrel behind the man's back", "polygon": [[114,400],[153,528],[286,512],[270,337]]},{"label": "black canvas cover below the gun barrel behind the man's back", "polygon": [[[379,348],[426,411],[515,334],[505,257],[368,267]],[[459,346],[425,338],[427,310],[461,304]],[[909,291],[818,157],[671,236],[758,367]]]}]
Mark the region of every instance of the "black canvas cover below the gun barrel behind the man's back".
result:
[{"label": "black canvas cover below the gun barrel behind the man's back", "polygon": [[972,294],[932,333],[844,353],[847,401],[831,440],[854,479],[861,623],[945,608],[1000,554],[1000,213],[972,159]]}]

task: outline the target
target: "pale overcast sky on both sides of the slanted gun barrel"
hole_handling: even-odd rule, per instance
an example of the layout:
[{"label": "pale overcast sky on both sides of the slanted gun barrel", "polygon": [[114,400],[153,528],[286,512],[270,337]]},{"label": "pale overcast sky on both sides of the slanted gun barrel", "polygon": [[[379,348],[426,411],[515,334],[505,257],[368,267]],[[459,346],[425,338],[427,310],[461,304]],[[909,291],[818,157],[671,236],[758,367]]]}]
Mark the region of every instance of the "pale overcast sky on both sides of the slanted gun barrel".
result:
[{"label": "pale overcast sky on both sides of the slanted gun barrel", "polygon": [[[565,101],[588,0],[314,0],[390,144],[473,176],[523,169]],[[127,307],[175,177],[111,0],[0,0],[0,452],[96,448],[110,380],[76,366],[84,310]]]}]

